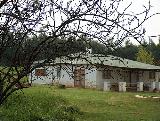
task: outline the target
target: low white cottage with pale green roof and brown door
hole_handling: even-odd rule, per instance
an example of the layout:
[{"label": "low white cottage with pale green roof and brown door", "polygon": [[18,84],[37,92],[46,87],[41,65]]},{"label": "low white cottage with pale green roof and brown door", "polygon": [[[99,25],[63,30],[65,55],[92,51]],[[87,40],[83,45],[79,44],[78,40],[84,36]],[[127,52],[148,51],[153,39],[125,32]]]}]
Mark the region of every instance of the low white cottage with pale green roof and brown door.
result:
[{"label": "low white cottage with pale green roof and brown door", "polygon": [[[29,74],[30,82],[103,89],[105,82],[113,85],[126,82],[128,87],[143,82],[146,88],[150,88],[150,82],[160,81],[159,66],[111,55],[80,54],[78,58],[75,56],[56,58],[44,67],[36,68]],[[36,63],[39,62],[34,64]]]}]

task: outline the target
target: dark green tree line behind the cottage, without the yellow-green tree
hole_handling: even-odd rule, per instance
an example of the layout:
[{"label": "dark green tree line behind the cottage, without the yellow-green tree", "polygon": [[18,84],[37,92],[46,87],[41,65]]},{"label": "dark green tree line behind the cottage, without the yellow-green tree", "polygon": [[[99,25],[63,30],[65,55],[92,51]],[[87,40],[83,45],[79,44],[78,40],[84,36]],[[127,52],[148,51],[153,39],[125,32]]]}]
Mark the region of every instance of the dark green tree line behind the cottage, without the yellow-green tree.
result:
[{"label": "dark green tree line behind the cottage, without the yellow-green tree", "polygon": [[[41,33],[38,37],[26,37],[26,43],[24,43],[24,52],[32,53],[32,50],[41,43],[44,39],[47,38],[45,33]],[[111,40],[107,40],[111,41]],[[152,52],[152,56],[154,57],[155,64],[159,65],[160,60],[160,46],[156,45],[153,41],[149,44],[144,41],[142,43],[146,47],[146,49]],[[127,58],[131,60],[137,60],[137,53],[139,46],[132,44],[129,40],[125,42],[123,47],[117,47],[114,50],[111,47],[106,47],[104,44],[99,43],[98,41],[94,41],[88,39],[86,36],[81,35],[79,38],[75,38],[74,36],[69,36],[68,38],[59,37],[56,39],[49,39],[43,48],[41,48],[41,52],[37,56],[35,60],[42,60],[46,58],[54,59],[55,57],[68,55],[71,53],[85,52],[87,48],[92,49],[93,54],[104,54],[104,55],[114,55],[122,58]],[[15,48],[7,48],[5,55],[1,58],[1,65],[11,65],[12,63],[8,62],[8,58],[12,58],[15,52]],[[23,51],[22,51],[23,52]],[[23,56],[23,53],[21,53]],[[136,58],[135,58],[136,57]],[[23,57],[21,58],[23,62]]]}]

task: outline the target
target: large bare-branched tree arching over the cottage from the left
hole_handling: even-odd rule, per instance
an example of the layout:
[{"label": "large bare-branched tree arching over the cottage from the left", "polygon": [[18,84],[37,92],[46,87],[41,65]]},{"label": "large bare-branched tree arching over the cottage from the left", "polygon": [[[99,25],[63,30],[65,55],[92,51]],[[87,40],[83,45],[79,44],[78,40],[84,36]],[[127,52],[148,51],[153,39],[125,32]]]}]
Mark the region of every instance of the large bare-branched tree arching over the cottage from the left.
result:
[{"label": "large bare-branched tree arching over the cottage from the left", "polygon": [[[76,38],[84,34],[107,48],[118,46],[128,37],[141,43],[144,34],[141,26],[152,16],[149,14],[150,2],[143,12],[137,14],[128,10],[131,4],[120,9],[122,4],[123,0],[1,0],[0,61],[7,56],[10,66],[0,68],[0,104],[17,90],[14,88],[17,83],[23,88],[20,80],[43,65],[33,66],[33,62],[58,38],[70,35]],[[46,36],[39,37],[42,33]],[[114,41],[111,43],[109,38]],[[32,39],[39,41],[31,46],[28,41]],[[60,44],[54,48],[53,53],[64,49]],[[11,57],[6,52],[8,50],[13,50]],[[59,55],[51,56],[56,58]],[[45,62],[51,56],[47,56]]]}]

